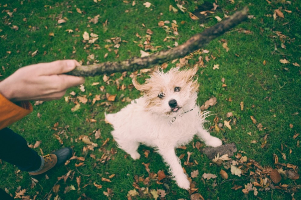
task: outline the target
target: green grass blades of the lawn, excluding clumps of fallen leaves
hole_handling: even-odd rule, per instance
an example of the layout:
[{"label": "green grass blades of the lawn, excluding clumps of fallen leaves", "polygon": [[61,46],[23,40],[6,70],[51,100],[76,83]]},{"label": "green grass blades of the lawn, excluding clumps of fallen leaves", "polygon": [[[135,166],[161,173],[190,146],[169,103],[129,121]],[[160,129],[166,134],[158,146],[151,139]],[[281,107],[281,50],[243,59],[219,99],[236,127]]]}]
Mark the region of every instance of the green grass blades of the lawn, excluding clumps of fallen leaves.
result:
[{"label": "green grass blades of the lawn, excluding clumps of fallen leaves", "polygon": [[[188,13],[179,11],[178,13],[169,12],[169,5],[176,7],[176,2],[169,1],[149,1],[152,3],[151,8],[145,8],[145,1],[135,1],[136,5],[132,6],[132,2],[124,3],[123,1],[105,1],[94,3],[90,1],[6,1],[0,4],[0,78],[12,74],[16,69],[35,64],[39,62],[49,62],[58,59],[76,59],[87,63],[87,56],[95,54],[95,59],[99,62],[118,61],[134,56],[140,56],[140,50],[143,50],[138,44],[143,44],[146,40],[145,35],[147,29],[151,29],[151,45],[154,47],[161,46],[158,51],[167,49],[168,46],[173,47],[177,41],[182,44],[195,33],[204,30],[199,26],[197,21],[191,20]],[[213,2],[213,1],[212,1]],[[202,3],[202,1],[187,1],[184,7],[187,11],[193,12],[194,7]],[[281,4],[279,1],[272,1],[268,4],[266,1],[218,1],[217,4],[220,11],[213,16],[224,18],[224,14],[231,15],[236,9],[241,9],[248,5],[249,14],[254,15],[254,19],[248,19],[246,22],[235,27],[233,30],[224,34],[216,40],[213,40],[204,49],[209,50],[208,56],[213,55],[215,60],[205,61],[205,68],[198,71],[198,81],[200,83],[198,103],[203,104],[209,98],[215,96],[217,104],[209,108],[214,115],[208,119],[211,125],[214,125],[213,119],[219,117],[219,123],[224,120],[229,121],[226,117],[228,112],[233,112],[236,119],[236,125],[233,124],[232,130],[223,127],[224,131],[216,132],[212,129],[212,135],[223,139],[224,143],[235,142],[239,151],[243,151],[243,155],[250,159],[256,160],[264,167],[275,168],[273,154],[279,157],[280,163],[290,163],[300,166],[301,159],[300,147],[297,141],[300,136],[293,139],[296,133],[300,133],[300,67],[292,65],[292,63],[300,63],[300,7],[299,1],[291,1],[289,4],[285,2]],[[282,7],[285,18],[273,19],[275,9]],[[16,12],[13,9],[16,8]],[[76,11],[80,8],[82,14]],[[292,11],[285,12],[284,9]],[[126,11],[126,12],[125,12]],[[13,12],[13,16],[9,17],[7,12]],[[161,15],[162,13],[162,15]],[[67,23],[57,24],[60,15],[67,18]],[[93,18],[100,15],[97,24],[89,23],[88,17]],[[267,16],[271,15],[271,16]],[[26,20],[24,20],[26,18]],[[106,29],[103,23],[108,20]],[[174,36],[167,33],[164,29],[158,27],[159,21],[176,20],[178,24],[179,36],[176,40],[163,39],[167,36]],[[183,24],[181,22],[184,22]],[[145,27],[142,25],[144,24]],[[209,17],[206,27],[216,24],[216,19]],[[18,30],[12,29],[12,26],[18,26]],[[167,24],[171,27],[171,24]],[[74,30],[68,33],[65,30]],[[240,33],[239,30],[249,30],[250,34]],[[99,39],[89,46],[82,42],[82,34],[96,33]],[[285,35],[285,38],[277,36],[277,32]],[[54,34],[49,36],[50,33]],[[138,33],[142,38],[136,37]],[[114,47],[110,47],[112,51],[105,48],[106,40],[112,37],[121,37],[121,46],[118,48],[119,57],[116,58]],[[221,39],[226,40],[230,50],[222,47]],[[282,41],[281,41],[282,40]],[[137,41],[138,43],[134,43]],[[281,48],[281,43],[286,48]],[[95,44],[99,45],[99,48]],[[274,51],[275,46],[279,51]],[[38,49],[38,54],[34,57],[31,54]],[[76,51],[73,53],[73,51]],[[10,52],[10,53],[8,53]],[[45,52],[45,54],[44,54]],[[104,55],[108,53],[107,58]],[[202,54],[203,58],[207,54]],[[189,60],[190,66],[193,66],[200,55],[194,54]],[[286,58],[290,64],[281,64],[280,59]],[[263,65],[263,61],[266,62]],[[176,63],[178,63],[177,61]],[[168,63],[168,69],[174,67],[176,63]],[[219,69],[213,70],[213,65],[219,64]],[[47,173],[49,179],[45,175],[38,178],[38,183],[31,188],[31,177],[27,172],[17,172],[17,168],[9,163],[2,161],[0,165],[0,181],[1,188],[7,188],[9,193],[15,195],[16,189],[21,186],[27,189],[31,198],[37,195],[37,199],[43,199],[51,190],[57,181],[57,177],[63,176],[72,170],[70,178],[66,183],[59,181],[60,190],[58,196],[62,199],[107,199],[103,191],[107,188],[113,190],[109,199],[126,199],[128,191],[134,189],[132,186],[135,176],[148,177],[148,173],[142,163],[150,163],[151,172],[157,173],[158,170],[164,170],[168,175],[167,167],[162,162],[161,157],[151,148],[140,146],[139,152],[142,154],[141,159],[134,161],[130,156],[121,149],[118,149],[114,142],[110,131],[110,125],[104,122],[104,112],[117,112],[124,107],[127,102],[123,99],[135,99],[140,96],[140,92],[132,88],[131,75],[127,72],[123,80],[119,80],[120,86],[124,84],[125,90],[118,89],[114,80],[121,77],[121,73],[116,73],[110,77],[112,81],[107,84],[103,81],[102,76],[86,78],[85,92],[79,88],[71,88],[65,96],[76,98],[77,96],[86,95],[89,102],[81,104],[79,110],[72,112],[71,108],[74,103],[65,102],[64,98],[57,101],[44,102],[41,105],[34,106],[34,111],[22,120],[10,126],[15,132],[24,136],[27,142],[34,144],[36,141],[42,141],[39,148],[46,153],[50,153],[55,149],[59,149],[62,145],[55,138],[54,134],[61,134],[63,146],[72,146],[77,156],[85,157],[84,165],[75,167],[75,164],[82,161],[71,160],[67,166],[58,167],[56,170]],[[138,79],[142,82],[147,78],[147,74],[143,74]],[[227,87],[222,87],[221,79],[225,79]],[[92,86],[93,82],[100,82],[99,85]],[[102,91],[100,86],[104,87]],[[76,93],[75,96],[69,95],[71,91]],[[114,102],[108,102],[106,93],[117,94]],[[95,95],[100,95],[101,100],[92,105],[92,99]],[[229,101],[229,98],[232,101]],[[240,102],[244,102],[244,109],[241,111]],[[32,102],[34,103],[34,102]],[[40,118],[37,115],[40,115]],[[296,114],[298,113],[298,114]],[[263,125],[260,131],[256,125],[252,123],[250,116],[254,116],[258,123]],[[89,119],[95,119],[96,122],[90,122]],[[53,129],[54,124],[58,122],[57,130]],[[290,124],[293,128],[290,128]],[[209,124],[207,125],[209,127]],[[100,129],[100,139],[95,139],[93,131]],[[247,133],[251,132],[252,136]],[[267,143],[262,148],[263,138],[266,134]],[[88,150],[83,152],[83,148],[87,146],[78,138],[80,135],[89,135],[91,140],[98,144],[94,151]],[[109,142],[103,147],[103,142],[109,138]],[[251,141],[256,140],[256,143]],[[194,143],[198,139],[194,139]],[[283,149],[281,149],[281,146]],[[36,150],[39,152],[39,148]],[[110,153],[111,149],[117,151],[116,154]],[[150,154],[146,158],[143,150],[149,150]],[[291,150],[291,153],[290,153]],[[187,149],[177,149],[177,155],[185,154],[181,160],[182,163],[187,159],[187,151],[193,152],[190,162],[196,160],[197,164],[192,166],[184,166],[187,173],[198,169],[200,175],[193,179],[196,182],[198,192],[205,199],[291,199],[291,194],[284,190],[259,191],[258,196],[254,196],[252,192],[244,195],[239,190],[231,189],[234,184],[244,186],[249,181],[236,181],[222,183],[219,171],[224,169],[223,166],[217,166],[197,149],[193,148],[192,142],[187,145]],[[282,158],[280,153],[285,153],[286,160]],[[90,157],[91,154],[100,159],[103,154],[110,156],[110,159],[104,162],[97,161]],[[233,159],[235,159],[233,157]],[[225,170],[225,169],[224,169]],[[229,179],[248,179],[249,172],[246,176],[237,177],[231,175],[230,170],[226,170]],[[216,174],[216,186],[213,180],[203,181],[201,175],[203,173]],[[112,182],[103,182],[101,177],[108,178],[111,174],[115,174],[111,178]],[[80,187],[76,183],[76,177],[81,176]],[[93,183],[101,184],[103,187],[97,189]],[[167,177],[161,181],[164,184],[157,184],[155,180],[151,180],[149,184],[144,185],[139,182],[140,187],[148,188],[149,191],[163,189],[166,192],[165,198],[162,199],[190,199],[187,191],[177,187],[174,181]],[[282,183],[298,185],[301,184],[300,179],[284,180]],[[67,186],[74,185],[76,190],[71,190],[64,194]],[[84,187],[85,186],[85,187]],[[50,192],[54,199],[56,194]],[[301,199],[299,191],[294,192],[295,199]],[[150,193],[141,194],[132,197],[132,199],[154,199]],[[160,199],[160,197],[158,198]]]}]

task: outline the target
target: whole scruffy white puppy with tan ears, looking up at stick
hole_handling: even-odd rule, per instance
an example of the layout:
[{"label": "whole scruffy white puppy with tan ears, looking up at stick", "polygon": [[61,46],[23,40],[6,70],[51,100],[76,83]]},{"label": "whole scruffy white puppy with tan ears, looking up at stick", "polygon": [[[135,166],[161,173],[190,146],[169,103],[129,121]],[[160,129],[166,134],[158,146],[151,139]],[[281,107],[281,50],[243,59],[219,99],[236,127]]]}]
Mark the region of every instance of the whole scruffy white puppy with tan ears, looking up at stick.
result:
[{"label": "whole scruffy white puppy with tan ears, looking up at stick", "polygon": [[[198,68],[179,71],[172,68],[154,72],[141,85],[132,80],[144,96],[133,100],[118,113],[105,114],[113,125],[111,132],[119,148],[136,160],[140,143],[154,147],[170,167],[170,173],[180,188],[188,190],[190,182],[184,174],[175,148],[186,145],[196,134],[208,146],[217,147],[222,141],[203,127],[204,113],[196,104],[198,83],[193,76]],[[207,112],[208,113],[208,112]]]}]

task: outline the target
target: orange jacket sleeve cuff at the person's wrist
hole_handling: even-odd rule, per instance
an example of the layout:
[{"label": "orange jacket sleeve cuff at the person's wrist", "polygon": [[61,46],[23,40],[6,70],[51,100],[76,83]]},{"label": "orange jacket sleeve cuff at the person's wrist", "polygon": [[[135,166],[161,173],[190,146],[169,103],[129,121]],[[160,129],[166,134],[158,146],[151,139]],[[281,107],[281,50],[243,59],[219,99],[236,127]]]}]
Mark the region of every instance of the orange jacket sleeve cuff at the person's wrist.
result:
[{"label": "orange jacket sleeve cuff at the person's wrist", "polygon": [[24,118],[32,110],[32,105],[28,101],[14,104],[0,94],[0,130]]}]

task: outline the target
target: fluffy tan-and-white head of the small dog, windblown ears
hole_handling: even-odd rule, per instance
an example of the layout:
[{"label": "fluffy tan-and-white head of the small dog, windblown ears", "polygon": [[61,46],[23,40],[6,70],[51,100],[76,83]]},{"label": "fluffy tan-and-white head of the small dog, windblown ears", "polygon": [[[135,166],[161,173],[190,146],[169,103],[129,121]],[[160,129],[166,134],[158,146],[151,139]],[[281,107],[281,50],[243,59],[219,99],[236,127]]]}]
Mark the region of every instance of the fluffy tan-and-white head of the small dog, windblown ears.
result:
[{"label": "fluffy tan-and-white head of the small dog, windblown ears", "polygon": [[194,107],[197,79],[193,76],[198,71],[197,67],[187,70],[172,68],[164,73],[158,70],[151,74],[144,84],[139,84],[134,78],[136,89],[145,93],[146,109],[152,113],[176,116]]}]

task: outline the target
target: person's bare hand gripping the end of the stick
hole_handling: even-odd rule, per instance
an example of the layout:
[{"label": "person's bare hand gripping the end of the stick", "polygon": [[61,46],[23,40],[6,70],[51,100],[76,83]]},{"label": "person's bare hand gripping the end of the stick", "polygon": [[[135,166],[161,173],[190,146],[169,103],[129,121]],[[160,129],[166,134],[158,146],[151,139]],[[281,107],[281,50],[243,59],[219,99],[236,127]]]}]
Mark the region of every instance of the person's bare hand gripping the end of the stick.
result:
[{"label": "person's bare hand gripping the end of the stick", "polygon": [[79,63],[59,60],[22,67],[0,82],[0,93],[12,102],[60,99],[70,87],[85,82],[83,77],[66,75]]}]

